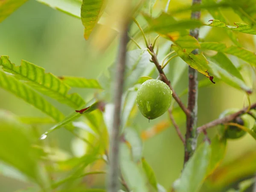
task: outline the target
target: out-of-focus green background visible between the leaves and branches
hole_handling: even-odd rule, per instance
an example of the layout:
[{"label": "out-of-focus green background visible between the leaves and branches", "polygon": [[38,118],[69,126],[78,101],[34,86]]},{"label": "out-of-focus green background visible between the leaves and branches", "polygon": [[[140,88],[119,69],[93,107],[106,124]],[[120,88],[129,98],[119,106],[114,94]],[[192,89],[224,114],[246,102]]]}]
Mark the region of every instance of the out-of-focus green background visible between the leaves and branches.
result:
[{"label": "out-of-focus green background visible between the leaves and branches", "polygon": [[[177,1],[175,2],[177,3]],[[186,2],[189,3],[189,1]],[[233,19],[236,17],[230,13],[230,21]],[[117,39],[113,41],[105,51],[98,51],[90,44],[90,41],[84,40],[83,29],[80,19],[55,11],[35,0],[29,0],[0,23],[0,55],[9,55],[10,60],[16,65],[19,65],[21,59],[24,59],[44,67],[46,72],[51,72],[57,76],[81,76],[95,79],[115,60],[118,41],[116,41]],[[206,29],[202,28],[202,34],[204,33],[206,33]],[[206,39],[228,43],[227,37],[221,34],[223,34],[222,29],[212,28]],[[241,38],[244,46],[254,51],[253,36],[244,35]],[[246,66],[246,64],[244,65]],[[173,73],[175,72],[168,73],[170,79]],[[255,79],[251,78],[248,71],[244,70],[243,76],[248,84],[255,85]],[[205,77],[199,75],[199,78],[204,79]],[[187,77],[184,73],[177,86],[177,92],[180,93],[186,87]],[[93,90],[88,89],[72,89],[72,92],[79,92],[86,101],[94,93]],[[251,102],[256,101],[255,94],[250,98]],[[186,102],[186,96],[183,96],[182,99]],[[71,108],[58,102],[50,101],[64,114],[72,111]],[[218,118],[219,114],[227,108],[242,108],[245,105],[248,105],[246,95],[226,84],[217,83],[201,88],[198,96],[198,125]],[[18,116],[45,116],[3,89],[0,89],[0,108],[11,111]],[[168,114],[166,113],[161,118],[151,120],[148,123],[147,119],[137,113],[134,121],[137,124],[137,130],[141,133],[167,118]],[[179,122],[183,122],[180,124],[180,129],[185,134],[185,119],[181,119]],[[48,125],[42,127],[40,133],[43,133],[47,128],[49,128]],[[215,133],[215,128],[209,130],[210,136]],[[73,135],[63,128],[50,134],[47,140],[58,145],[67,153],[73,153],[71,145]],[[244,154],[255,151],[255,147],[256,142],[250,135],[239,140],[229,141],[223,163],[243,157]],[[172,182],[180,175],[183,167],[183,153],[183,145],[172,126],[144,141],[143,156],[154,169],[159,183],[166,188],[170,188]],[[102,185],[105,185],[103,180],[101,182]],[[32,186],[32,184],[0,174],[0,192],[15,192],[17,189],[27,186]]]}]

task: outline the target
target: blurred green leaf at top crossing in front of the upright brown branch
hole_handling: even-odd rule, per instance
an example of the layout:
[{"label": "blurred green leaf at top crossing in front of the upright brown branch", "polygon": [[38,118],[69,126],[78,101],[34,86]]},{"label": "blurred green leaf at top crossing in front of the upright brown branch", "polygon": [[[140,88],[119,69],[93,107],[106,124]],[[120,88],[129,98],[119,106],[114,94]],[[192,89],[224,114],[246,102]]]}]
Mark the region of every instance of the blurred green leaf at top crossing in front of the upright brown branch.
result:
[{"label": "blurred green leaf at top crossing in front of the upright brown branch", "polygon": [[168,35],[170,32],[184,32],[186,29],[194,29],[203,26],[200,20],[175,20],[171,15],[162,12],[157,18],[152,18],[147,14],[143,14],[147,20],[150,31],[155,31],[163,35]]}]

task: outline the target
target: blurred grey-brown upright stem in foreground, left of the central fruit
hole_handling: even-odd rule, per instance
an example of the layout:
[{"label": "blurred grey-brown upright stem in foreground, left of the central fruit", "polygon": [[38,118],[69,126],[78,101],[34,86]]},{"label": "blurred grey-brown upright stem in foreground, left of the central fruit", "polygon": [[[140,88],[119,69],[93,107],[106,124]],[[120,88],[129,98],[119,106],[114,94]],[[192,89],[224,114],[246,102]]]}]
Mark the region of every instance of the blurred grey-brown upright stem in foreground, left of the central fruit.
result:
[{"label": "blurred grey-brown upright stem in foreground, left of the central fruit", "polygon": [[122,92],[124,84],[126,46],[128,43],[128,23],[124,24],[120,33],[119,58],[116,66],[116,82],[114,96],[113,128],[111,131],[111,148],[110,148],[110,172],[108,191],[117,192],[119,187],[119,140],[120,140],[120,111],[122,102]]}]

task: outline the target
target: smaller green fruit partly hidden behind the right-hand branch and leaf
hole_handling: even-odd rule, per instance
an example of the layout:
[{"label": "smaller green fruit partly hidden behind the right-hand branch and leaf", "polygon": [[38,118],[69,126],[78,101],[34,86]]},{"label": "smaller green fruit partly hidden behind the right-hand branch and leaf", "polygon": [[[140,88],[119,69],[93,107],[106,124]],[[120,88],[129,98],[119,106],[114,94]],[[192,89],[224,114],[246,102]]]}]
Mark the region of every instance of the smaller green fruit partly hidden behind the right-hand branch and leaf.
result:
[{"label": "smaller green fruit partly hidden behind the right-hand branch and leaf", "polygon": [[[221,113],[220,118],[223,118],[224,116],[228,116],[230,114],[236,113],[238,109],[228,109]],[[249,121],[246,118],[246,116],[237,116],[236,119],[231,121],[233,123],[237,123],[239,125],[242,125],[244,127],[249,127]],[[227,139],[238,139],[244,134],[246,134],[246,131],[241,130],[240,128],[233,126],[233,125],[221,125],[219,131],[221,132],[221,135],[224,136]]]}]

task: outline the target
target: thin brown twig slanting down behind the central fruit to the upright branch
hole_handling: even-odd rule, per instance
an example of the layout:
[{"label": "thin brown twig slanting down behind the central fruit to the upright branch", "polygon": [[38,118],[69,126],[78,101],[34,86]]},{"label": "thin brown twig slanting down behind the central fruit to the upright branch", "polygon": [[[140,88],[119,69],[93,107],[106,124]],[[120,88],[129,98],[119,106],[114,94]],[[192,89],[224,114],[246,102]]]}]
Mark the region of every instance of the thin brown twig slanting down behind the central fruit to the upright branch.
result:
[{"label": "thin brown twig slanting down behind the central fruit to the upright branch", "polygon": [[154,49],[152,47],[152,45],[149,45],[148,46],[148,49],[151,51],[152,53],[152,62],[155,64],[155,66],[157,67],[157,70],[161,76],[161,80],[163,82],[165,82],[169,87],[170,89],[172,90],[172,97],[175,99],[175,101],[178,103],[178,105],[180,106],[180,108],[184,111],[184,113],[186,114],[186,116],[188,116],[190,113],[189,113],[189,110],[186,108],[186,106],[181,102],[179,96],[177,95],[177,93],[175,92],[175,90],[172,88],[172,85],[170,83],[170,81],[167,79],[165,73],[163,72],[163,69],[161,67],[161,65],[159,64],[159,61],[157,59],[157,55],[155,54],[154,52]]}]

